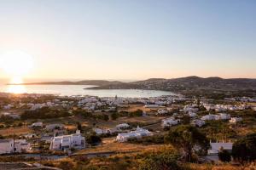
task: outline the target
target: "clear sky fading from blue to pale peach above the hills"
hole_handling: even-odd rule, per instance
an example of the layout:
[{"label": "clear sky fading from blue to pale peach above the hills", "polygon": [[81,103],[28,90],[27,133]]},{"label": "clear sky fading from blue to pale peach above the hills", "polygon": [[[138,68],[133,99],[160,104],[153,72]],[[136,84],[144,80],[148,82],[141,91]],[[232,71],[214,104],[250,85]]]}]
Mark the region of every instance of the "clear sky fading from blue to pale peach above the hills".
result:
[{"label": "clear sky fading from blue to pale peach above the hills", "polygon": [[[29,55],[22,77],[38,79],[256,78],[255,8],[255,0],[0,0],[0,58]],[[2,61],[0,78],[17,62]]]}]

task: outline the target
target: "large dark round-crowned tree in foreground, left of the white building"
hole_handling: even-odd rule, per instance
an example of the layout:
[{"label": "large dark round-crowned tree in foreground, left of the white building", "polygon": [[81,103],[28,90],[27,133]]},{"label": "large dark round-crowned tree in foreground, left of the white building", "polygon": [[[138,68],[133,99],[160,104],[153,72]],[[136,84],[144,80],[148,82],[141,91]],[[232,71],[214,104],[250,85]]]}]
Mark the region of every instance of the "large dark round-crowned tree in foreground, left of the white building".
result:
[{"label": "large dark round-crowned tree in foreground, left of the white building", "polygon": [[201,146],[201,149],[206,151],[209,144],[206,135],[190,125],[172,128],[166,135],[165,141],[181,148],[185,154],[185,161],[191,161],[195,145]]}]

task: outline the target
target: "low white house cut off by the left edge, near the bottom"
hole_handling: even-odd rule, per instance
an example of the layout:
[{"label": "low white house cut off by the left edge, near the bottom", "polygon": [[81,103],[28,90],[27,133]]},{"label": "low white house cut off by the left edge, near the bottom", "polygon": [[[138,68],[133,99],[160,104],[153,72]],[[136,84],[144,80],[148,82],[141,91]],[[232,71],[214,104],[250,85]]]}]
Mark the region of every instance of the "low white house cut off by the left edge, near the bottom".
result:
[{"label": "low white house cut off by the left edge, near the bottom", "polygon": [[26,139],[0,139],[0,154],[20,153],[28,150],[30,150],[30,144],[26,142]]}]

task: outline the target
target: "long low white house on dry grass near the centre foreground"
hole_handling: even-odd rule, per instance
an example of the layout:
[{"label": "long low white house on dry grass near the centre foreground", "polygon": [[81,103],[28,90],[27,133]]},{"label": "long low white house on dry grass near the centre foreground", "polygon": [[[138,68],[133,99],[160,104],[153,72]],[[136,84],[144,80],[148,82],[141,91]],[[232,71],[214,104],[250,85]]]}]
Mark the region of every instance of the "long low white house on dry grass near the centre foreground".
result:
[{"label": "long low white house on dry grass near the centre foreground", "polygon": [[126,142],[128,139],[141,139],[144,136],[152,136],[153,134],[149,132],[147,129],[143,129],[141,127],[137,127],[135,131],[131,131],[130,133],[119,133],[116,137],[116,140],[119,142]]}]

